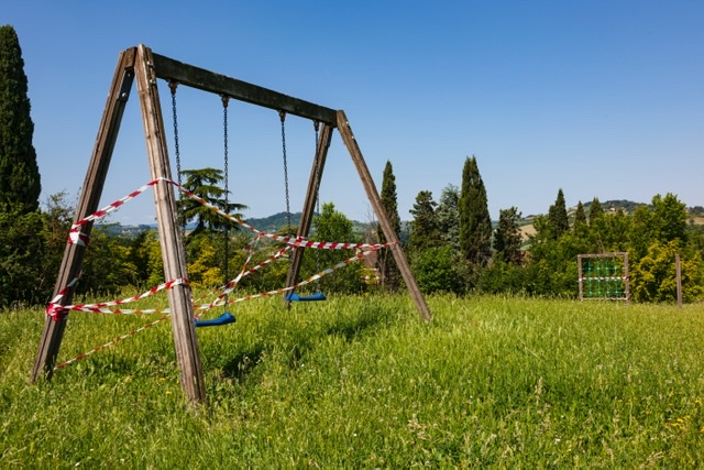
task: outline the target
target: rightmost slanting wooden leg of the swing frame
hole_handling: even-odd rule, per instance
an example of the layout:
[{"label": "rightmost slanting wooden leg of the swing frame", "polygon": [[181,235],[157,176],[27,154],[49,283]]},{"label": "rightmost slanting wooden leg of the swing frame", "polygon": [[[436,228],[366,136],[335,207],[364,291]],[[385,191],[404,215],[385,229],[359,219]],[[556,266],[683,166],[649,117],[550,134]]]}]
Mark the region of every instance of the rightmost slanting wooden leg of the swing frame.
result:
[{"label": "rightmost slanting wooden leg of the swing frame", "polygon": [[396,264],[398,265],[398,270],[400,271],[404,281],[406,282],[406,287],[408,288],[411,298],[416,303],[416,307],[418,308],[418,313],[424,320],[429,321],[432,316],[430,314],[430,309],[428,308],[428,304],[426,304],[426,299],[422,297],[420,293],[420,288],[416,283],[416,278],[414,277],[413,272],[410,271],[410,266],[408,265],[408,261],[406,261],[406,256],[404,255],[404,250],[398,242],[398,237],[392,227],[391,221],[386,215],[386,210],[384,209],[384,205],[382,204],[382,198],[376,190],[376,186],[374,185],[374,179],[372,179],[372,175],[370,174],[370,170],[364,162],[364,157],[362,156],[362,151],[360,150],[356,140],[354,139],[354,134],[352,133],[352,128],[350,128],[350,122],[348,121],[344,111],[338,111],[338,131],[340,132],[340,136],[344,142],[344,145],[348,147],[350,152],[350,156],[352,156],[352,162],[356,167],[358,173],[360,174],[360,178],[362,179],[362,185],[364,186],[364,190],[366,192],[366,196],[372,204],[372,208],[376,214],[376,218],[384,231],[384,236],[386,240],[392,243],[392,253],[394,254],[394,260],[396,260]]}]

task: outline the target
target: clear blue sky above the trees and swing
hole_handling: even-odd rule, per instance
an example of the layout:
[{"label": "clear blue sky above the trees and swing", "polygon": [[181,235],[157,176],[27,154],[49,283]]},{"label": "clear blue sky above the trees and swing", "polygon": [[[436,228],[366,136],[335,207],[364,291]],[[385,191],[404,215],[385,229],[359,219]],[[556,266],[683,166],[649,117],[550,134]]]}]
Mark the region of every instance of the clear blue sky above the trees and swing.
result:
[{"label": "clear blue sky above the trees and swing", "polygon": [[[704,206],[704,2],[35,1],[6,0],[20,37],[43,200],[76,197],[120,51],[175,59],[344,109],[381,189],[394,165],[399,215],[420,190],[439,200],[475,155],[492,218],[598,197],[673,193]],[[168,89],[160,84],[162,103]],[[219,97],[179,90],[183,166],[222,166]],[[165,109],[167,129],[170,110]],[[136,92],[101,205],[146,183]],[[299,210],[312,125],[287,120],[292,207]],[[246,217],[285,209],[276,112],[230,106],[230,187]],[[172,153],[173,159],[173,153]],[[321,186],[350,218],[371,208],[336,133]],[[152,222],[152,195],[113,216]]]}]

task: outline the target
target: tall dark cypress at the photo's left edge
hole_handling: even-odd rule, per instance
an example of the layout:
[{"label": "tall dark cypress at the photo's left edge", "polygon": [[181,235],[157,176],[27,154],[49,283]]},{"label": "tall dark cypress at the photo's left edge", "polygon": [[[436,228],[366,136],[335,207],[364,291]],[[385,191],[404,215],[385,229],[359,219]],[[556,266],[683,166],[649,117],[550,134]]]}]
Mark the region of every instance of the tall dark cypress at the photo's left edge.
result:
[{"label": "tall dark cypress at the photo's left edge", "polygon": [[33,133],[20,41],[11,25],[0,26],[0,210],[38,208],[42,183]]}]

